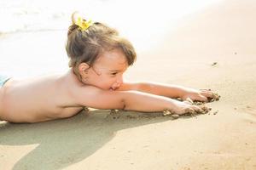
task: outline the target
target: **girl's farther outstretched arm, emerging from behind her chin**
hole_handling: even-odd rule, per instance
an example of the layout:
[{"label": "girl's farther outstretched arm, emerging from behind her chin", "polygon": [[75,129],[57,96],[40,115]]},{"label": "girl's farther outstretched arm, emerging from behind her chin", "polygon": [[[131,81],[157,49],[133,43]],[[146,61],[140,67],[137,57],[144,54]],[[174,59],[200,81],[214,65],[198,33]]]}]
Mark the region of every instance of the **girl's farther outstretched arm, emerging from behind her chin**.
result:
[{"label": "girl's farther outstretched arm, emerging from behind her chin", "polygon": [[211,90],[196,90],[182,86],[156,83],[156,82],[124,82],[119,90],[137,90],[148,94],[156,94],[169,98],[192,99],[208,101],[207,98],[214,98]]}]

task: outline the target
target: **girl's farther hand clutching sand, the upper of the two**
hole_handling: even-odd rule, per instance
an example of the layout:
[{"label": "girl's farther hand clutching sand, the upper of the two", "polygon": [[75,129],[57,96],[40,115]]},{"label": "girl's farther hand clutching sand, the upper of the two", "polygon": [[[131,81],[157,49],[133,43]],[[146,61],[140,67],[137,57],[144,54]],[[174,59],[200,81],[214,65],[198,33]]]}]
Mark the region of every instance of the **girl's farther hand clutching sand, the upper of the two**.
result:
[{"label": "girl's farther hand clutching sand, the upper of the two", "polygon": [[184,101],[189,101],[193,103],[193,101],[202,101],[202,102],[208,102],[211,101],[211,99],[218,100],[219,96],[218,94],[212,93],[211,89],[201,89],[201,90],[195,90],[195,89],[188,89],[187,93],[183,95],[182,99]]}]

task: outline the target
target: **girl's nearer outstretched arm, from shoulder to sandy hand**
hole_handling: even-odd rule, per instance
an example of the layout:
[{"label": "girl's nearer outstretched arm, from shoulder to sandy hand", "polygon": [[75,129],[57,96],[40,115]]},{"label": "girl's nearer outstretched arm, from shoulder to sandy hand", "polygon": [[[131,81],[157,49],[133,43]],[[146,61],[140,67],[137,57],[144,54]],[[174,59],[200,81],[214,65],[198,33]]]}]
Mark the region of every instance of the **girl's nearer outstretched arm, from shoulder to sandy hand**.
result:
[{"label": "girl's nearer outstretched arm, from shoulder to sandy hand", "polygon": [[123,109],[126,111],[165,111],[176,114],[201,111],[201,106],[189,105],[175,99],[137,91],[104,91],[95,87],[84,87],[75,93],[79,105],[96,109]]}]

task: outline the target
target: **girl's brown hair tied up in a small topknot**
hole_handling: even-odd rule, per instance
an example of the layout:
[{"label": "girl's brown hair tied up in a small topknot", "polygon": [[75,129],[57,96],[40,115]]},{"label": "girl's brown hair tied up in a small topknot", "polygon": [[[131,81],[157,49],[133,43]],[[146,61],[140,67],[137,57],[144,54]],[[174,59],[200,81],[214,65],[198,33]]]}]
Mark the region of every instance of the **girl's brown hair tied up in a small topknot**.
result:
[{"label": "girl's brown hair tied up in a small topknot", "polygon": [[100,22],[94,22],[82,31],[75,24],[75,14],[77,13],[72,14],[73,24],[69,26],[67,32],[66,50],[70,59],[69,67],[76,70],[79,64],[83,62],[91,66],[99,54],[114,48],[120,48],[123,51],[128,65],[134,63],[137,54],[131,42],[124,37],[120,37],[118,31]]}]

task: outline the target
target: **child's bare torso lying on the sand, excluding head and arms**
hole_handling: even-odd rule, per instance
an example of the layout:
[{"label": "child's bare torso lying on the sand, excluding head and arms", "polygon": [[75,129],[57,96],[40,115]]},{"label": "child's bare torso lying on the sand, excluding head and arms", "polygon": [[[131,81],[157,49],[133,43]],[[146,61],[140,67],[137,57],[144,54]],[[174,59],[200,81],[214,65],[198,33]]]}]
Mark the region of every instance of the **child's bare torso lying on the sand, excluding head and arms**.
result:
[{"label": "child's bare torso lying on the sand, excluding head and arms", "polygon": [[0,88],[0,120],[43,122],[77,114],[83,109],[70,96],[79,82],[68,72],[25,80],[10,79]]}]

